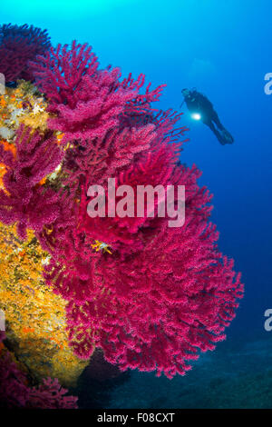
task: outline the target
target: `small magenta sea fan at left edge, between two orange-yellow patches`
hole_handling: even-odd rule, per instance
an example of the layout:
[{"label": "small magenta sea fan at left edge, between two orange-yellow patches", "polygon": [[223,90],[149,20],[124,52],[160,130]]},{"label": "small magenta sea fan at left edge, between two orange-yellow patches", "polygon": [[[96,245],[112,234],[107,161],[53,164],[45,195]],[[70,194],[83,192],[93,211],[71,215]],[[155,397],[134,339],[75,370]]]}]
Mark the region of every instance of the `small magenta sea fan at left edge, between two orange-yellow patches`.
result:
[{"label": "small magenta sea fan at left edge, between two orange-yellow patches", "polygon": [[62,152],[52,134],[41,136],[21,125],[15,137],[16,154],[0,145],[0,161],[6,166],[0,189],[0,221],[16,223],[18,236],[26,237],[26,228],[40,231],[59,213],[59,196],[39,183],[62,160]]}]

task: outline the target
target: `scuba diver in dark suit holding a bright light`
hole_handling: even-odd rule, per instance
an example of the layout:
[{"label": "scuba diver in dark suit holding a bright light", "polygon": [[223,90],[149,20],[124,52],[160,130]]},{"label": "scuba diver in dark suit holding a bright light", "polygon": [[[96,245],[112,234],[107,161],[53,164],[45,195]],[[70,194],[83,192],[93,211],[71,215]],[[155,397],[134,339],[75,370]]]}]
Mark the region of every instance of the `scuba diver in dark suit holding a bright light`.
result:
[{"label": "scuba diver in dark suit holding a bright light", "polygon": [[184,96],[183,103],[186,103],[192,118],[201,120],[202,123],[209,126],[209,129],[216,135],[220,144],[225,145],[234,142],[231,134],[219,121],[219,115],[214,110],[213,104],[204,94],[200,94],[195,88],[192,90],[182,89],[181,93]]}]

